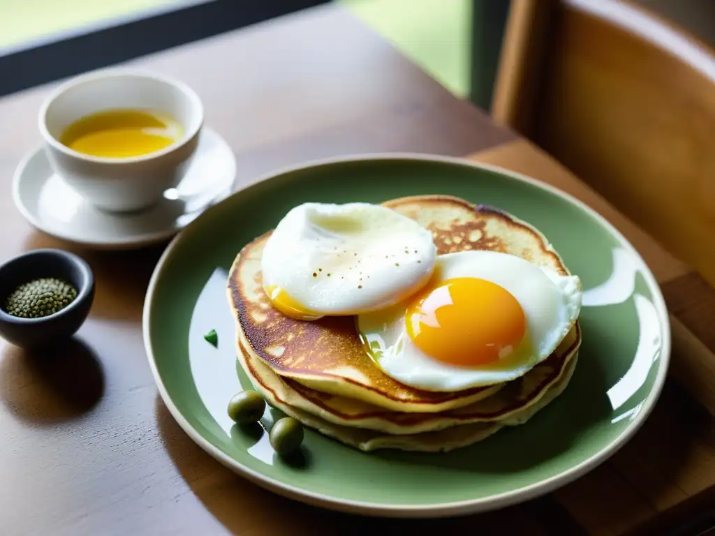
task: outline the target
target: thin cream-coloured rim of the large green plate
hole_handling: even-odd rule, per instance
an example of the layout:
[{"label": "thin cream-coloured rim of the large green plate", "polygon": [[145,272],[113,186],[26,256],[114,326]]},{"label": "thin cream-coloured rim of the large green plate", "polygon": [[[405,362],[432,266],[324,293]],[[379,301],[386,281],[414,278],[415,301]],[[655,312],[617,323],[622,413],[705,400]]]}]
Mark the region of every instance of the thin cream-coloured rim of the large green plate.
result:
[{"label": "thin cream-coloured rim of the large green plate", "polygon": [[[587,472],[590,472],[591,470],[595,469],[596,467],[598,467],[598,465],[601,465],[602,462],[605,462],[606,460],[608,460],[609,457],[618,452],[618,450],[623,447],[623,445],[625,445],[628,440],[631,440],[631,437],[635,435],[638,429],[640,429],[641,425],[643,425],[643,423],[649,417],[662,392],[666,379],[666,374],[669,369],[671,354],[670,321],[668,316],[668,309],[666,307],[665,299],[663,297],[659,284],[657,283],[654,274],[651,272],[651,269],[648,267],[641,254],[638,253],[636,248],[633,247],[633,244],[631,244],[631,242],[629,242],[628,239],[626,239],[626,237],[624,237],[623,234],[618,231],[618,229],[613,227],[613,225],[608,222],[603,216],[601,216],[601,214],[598,214],[598,212],[596,212],[594,209],[588,207],[588,205],[581,202],[581,200],[577,199],[576,197],[573,197],[571,194],[563,192],[561,189],[551,186],[551,184],[547,184],[538,179],[533,179],[533,177],[528,177],[525,174],[513,172],[509,169],[495,166],[493,164],[482,164],[480,162],[473,162],[464,157],[445,157],[435,154],[422,154],[411,152],[390,152],[380,154],[353,154],[341,157],[312,159],[306,162],[301,162],[300,164],[293,164],[290,166],[282,167],[272,172],[262,174],[260,177],[257,178],[257,180],[247,185],[246,187],[237,190],[236,192],[234,192],[234,194],[226,197],[220,203],[217,203],[214,207],[217,207],[222,202],[226,202],[227,199],[230,199],[230,197],[232,197],[233,195],[240,195],[241,192],[245,189],[249,189],[250,187],[254,187],[257,184],[270,181],[274,177],[280,177],[288,173],[298,172],[312,167],[321,167],[330,164],[350,162],[365,162],[373,160],[441,162],[445,164],[455,164],[462,167],[485,169],[487,171],[505,174],[521,182],[526,182],[527,184],[531,184],[532,186],[545,189],[546,191],[555,194],[562,199],[565,199],[567,202],[570,202],[571,204],[578,207],[578,209],[581,209],[581,211],[586,212],[586,214],[589,214],[591,217],[596,218],[596,220],[598,220],[598,222],[603,225],[604,228],[611,232],[613,236],[616,237],[623,244],[623,246],[626,247],[626,249],[628,249],[632,254],[634,254],[636,258],[641,262],[641,266],[644,268],[642,275],[646,281],[646,284],[648,284],[649,289],[651,289],[651,292],[653,294],[652,302],[656,308],[659,321],[661,322],[661,331],[663,338],[661,345],[661,354],[659,357],[659,369],[656,374],[656,378],[654,379],[653,387],[647,395],[646,399],[644,400],[644,406],[642,407],[641,411],[638,412],[638,415],[633,418],[633,420],[631,421],[631,425],[629,425],[626,430],[623,430],[623,432],[621,432],[621,435],[618,435],[615,440],[611,442],[610,445],[596,452],[596,454],[592,455],[591,457],[588,457],[586,460],[583,460],[583,462],[579,463],[578,465],[575,465],[570,469],[561,472],[558,475],[553,475],[546,480],[542,480],[541,482],[535,482],[526,487],[520,487],[516,490],[502,492],[496,495],[490,495],[488,497],[455,502],[432,503],[427,505],[385,505],[375,502],[340,499],[336,497],[331,497],[330,495],[304,490],[300,487],[287,485],[284,482],[280,482],[280,480],[268,477],[266,475],[263,475],[259,471],[252,470],[250,467],[242,465],[240,462],[234,460],[232,457],[222,452],[222,450],[212,445],[209,441],[205,440],[204,437],[202,437],[202,435],[200,435],[199,432],[197,432],[194,427],[189,424],[189,422],[184,418],[179,409],[174,405],[171,397],[169,396],[169,393],[167,392],[166,387],[164,386],[164,383],[162,382],[162,378],[159,375],[159,369],[157,367],[154,352],[152,350],[152,342],[149,337],[149,318],[151,317],[152,303],[154,301],[154,289],[157,286],[159,279],[162,277],[164,265],[166,264],[167,259],[172,254],[177,245],[182,242],[182,239],[184,237],[184,233],[179,232],[179,234],[177,234],[177,236],[172,239],[172,242],[169,243],[167,249],[164,250],[164,253],[159,258],[156,267],[154,267],[152,277],[149,280],[147,294],[144,299],[142,332],[144,338],[144,349],[147,352],[149,367],[152,370],[154,382],[157,384],[159,394],[161,395],[164,404],[167,406],[167,409],[172,414],[172,417],[174,417],[174,420],[176,420],[179,426],[182,427],[182,430],[184,430],[184,432],[186,432],[187,435],[189,435],[189,437],[197,445],[199,445],[199,447],[202,447],[204,451],[214,457],[215,460],[220,462],[222,465],[228,467],[230,470],[237,473],[237,475],[245,477],[247,480],[250,480],[250,482],[260,485],[267,490],[276,492],[277,494],[283,495],[285,497],[289,497],[290,499],[298,500],[309,505],[324,507],[329,510],[350,512],[353,514],[380,515],[388,517],[447,517],[455,515],[467,515],[507,507],[510,505],[514,505],[518,502],[524,502],[526,500],[539,497],[548,492],[556,490],[557,488],[562,487],[569,482],[573,482],[573,480],[576,480],[578,477],[581,477]],[[189,223],[187,228],[191,227],[195,222],[197,222],[199,218],[203,217],[206,212],[209,212],[214,207],[209,207],[209,209],[207,209],[199,217],[194,219],[193,222]]]}]

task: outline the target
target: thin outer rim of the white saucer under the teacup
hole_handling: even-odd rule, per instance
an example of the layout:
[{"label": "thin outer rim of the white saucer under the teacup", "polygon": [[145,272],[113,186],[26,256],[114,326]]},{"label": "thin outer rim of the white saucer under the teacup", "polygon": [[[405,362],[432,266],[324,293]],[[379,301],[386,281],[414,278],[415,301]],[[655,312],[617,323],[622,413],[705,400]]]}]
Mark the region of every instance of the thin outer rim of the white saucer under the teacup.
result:
[{"label": "thin outer rim of the white saucer under the teacup", "polygon": [[[233,163],[233,180],[232,180],[232,186],[236,182],[236,175],[237,175],[237,166],[236,166],[236,155],[232,151],[231,147],[227,144],[226,140],[214,129],[210,128],[209,126],[203,126],[201,129],[201,134],[203,135],[204,133],[209,134],[209,136],[215,137],[217,142],[222,144],[225,149],[230,152],[232,155],[232,163]],[[28,164],[31,162],[32,159],[36,158],[38,154],[41,152],[44,152],[44,144],[39,143],[36,144],[34,149],[29,150],[26,152],[24,157],[20,160],[20,162],[17,164],[17,167],[15,168],[15,172],[12,177],[12,201],[15,204],[16,209],[20,212],[22,217],[28,222],[32,227],[37,229],[38,231],[44,232],[46,234],[49,234],[51,237],[59,238],[61,240],[64,240],[66,242],[70,242],[71,244],[78,244],[81,246],[86,246],[86,247],[91,247],[92,249],[131,249],[134,247],[144,247],[144,246],[149,246],[152,244],[157,244],[159,242],[162,242],[170,237],[173,237],[175,234],[179,233],[182,231],[182,229],[177,229],[176,227],[167,227],[167,229],[163,231],[157,231],[153,233],[145,233],[145,234],[134,234],[134,235],[127,235],[125,237],[120,237],[119,239],[110,239],[110,240],[92,240],[92,239],[82,239],[81,237],[73,237],[69,234],[65,234],[64,232],[56,232],[56,230],[52,229],[51,227],[43,224],[42,222],[37,219],[32,212],[29,211],[29,209],[26,207],[26,204],[22,201],[21,196],[20,196],[20,181],[21,177],[24,175],[25,169],[27,169]],[[46,155],[44,157],[45,159],[47,158]],[[231,192],[225,197],[229,197]],[[222,198],[223,199],[223,198]],[[221,199],[221,200],[222,200]],[[207,207],[207,209],[210,208]],[[204,209],[207,210],[207,209]],[[195,218],[194,218],[195,219]],[[190,222],[189,222],[190,224]]]}]

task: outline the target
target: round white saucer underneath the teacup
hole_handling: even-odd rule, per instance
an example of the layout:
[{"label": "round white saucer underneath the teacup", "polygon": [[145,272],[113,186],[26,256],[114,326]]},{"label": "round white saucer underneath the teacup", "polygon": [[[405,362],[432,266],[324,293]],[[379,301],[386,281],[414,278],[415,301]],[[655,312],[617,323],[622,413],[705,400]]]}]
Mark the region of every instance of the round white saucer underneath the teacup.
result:
[{"label": "round white saucer underneath the teacup", "polygon": [[20,162],[13,199],[28,222],[54,237],[98,249],[124,249],[172,237],[231,192],[236,160],[226,142],[204,126],[194,158],[176,188],[154,207],[131,214],[94,208],[52,172],[40,147]]}]

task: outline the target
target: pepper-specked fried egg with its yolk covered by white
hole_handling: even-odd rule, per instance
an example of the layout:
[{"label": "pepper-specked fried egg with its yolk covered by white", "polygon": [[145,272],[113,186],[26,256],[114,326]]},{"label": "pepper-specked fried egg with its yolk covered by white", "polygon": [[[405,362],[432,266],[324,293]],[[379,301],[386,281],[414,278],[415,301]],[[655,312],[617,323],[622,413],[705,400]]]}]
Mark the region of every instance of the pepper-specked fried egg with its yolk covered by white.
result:
[{"label": "pepper-specked fried egg with its yolk covered by white", "polygon": [[369,203],[305,203],[267,239],[263,288],[288,317],[314,320],[398,303],[430,279],[432,233],[392,209]]}]

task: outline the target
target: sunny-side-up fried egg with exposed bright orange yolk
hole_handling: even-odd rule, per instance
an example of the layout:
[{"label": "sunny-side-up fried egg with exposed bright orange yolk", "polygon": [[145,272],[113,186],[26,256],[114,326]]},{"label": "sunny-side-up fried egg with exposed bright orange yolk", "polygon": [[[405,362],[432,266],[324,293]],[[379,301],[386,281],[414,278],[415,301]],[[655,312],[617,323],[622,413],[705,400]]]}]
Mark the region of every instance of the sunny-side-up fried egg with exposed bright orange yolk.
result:
[{"label": "sunny-side-up fried egg with exposed bright orange yolk", "polygon": [[556,349],[581,311],[581,281],[511,254],[440,255],[428,284],[402,303],[360,314],[380,369],[433,391],[508,382]]}]

